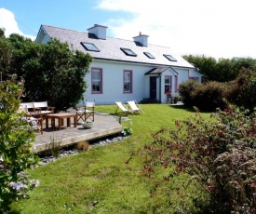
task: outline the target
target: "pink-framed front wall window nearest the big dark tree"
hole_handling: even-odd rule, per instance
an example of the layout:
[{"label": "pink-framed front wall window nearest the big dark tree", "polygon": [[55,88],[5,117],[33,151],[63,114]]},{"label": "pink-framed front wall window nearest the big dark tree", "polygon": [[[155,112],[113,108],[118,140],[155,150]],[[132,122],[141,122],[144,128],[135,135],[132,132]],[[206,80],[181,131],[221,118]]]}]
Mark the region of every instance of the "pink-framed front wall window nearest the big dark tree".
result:
[{"label": "pink-framed front wall window nearest the big dark tree", "polygon": [[102,93],[102,70],[100,68],[91,69],[91,92]]}]

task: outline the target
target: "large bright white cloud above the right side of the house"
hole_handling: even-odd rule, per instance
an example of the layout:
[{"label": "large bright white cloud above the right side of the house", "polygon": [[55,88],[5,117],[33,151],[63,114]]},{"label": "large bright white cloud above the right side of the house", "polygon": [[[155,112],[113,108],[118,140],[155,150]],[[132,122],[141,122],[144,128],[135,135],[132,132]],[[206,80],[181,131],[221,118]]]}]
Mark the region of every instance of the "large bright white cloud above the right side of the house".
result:
[{"label": "large bright white cloud above the right side of the house", "polygon": [[130,40],[141,32],[149,44],[180,54],[256,58],[253,0],[101,0],[98,7],[133,15],[107,20],[115,37]]}]

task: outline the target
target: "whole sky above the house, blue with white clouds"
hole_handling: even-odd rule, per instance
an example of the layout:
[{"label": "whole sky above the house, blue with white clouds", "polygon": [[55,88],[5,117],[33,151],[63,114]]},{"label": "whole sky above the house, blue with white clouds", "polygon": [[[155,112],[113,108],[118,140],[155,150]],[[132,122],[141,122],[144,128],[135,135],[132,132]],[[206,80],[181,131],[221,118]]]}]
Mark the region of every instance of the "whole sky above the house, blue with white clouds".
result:
[{"label": "whole sky above the house, blue with white clouds", "polygon": [[0,27],[34,38],[41,24],[107,35],[183,54],[256,59],[255,0],[0,0]]}]

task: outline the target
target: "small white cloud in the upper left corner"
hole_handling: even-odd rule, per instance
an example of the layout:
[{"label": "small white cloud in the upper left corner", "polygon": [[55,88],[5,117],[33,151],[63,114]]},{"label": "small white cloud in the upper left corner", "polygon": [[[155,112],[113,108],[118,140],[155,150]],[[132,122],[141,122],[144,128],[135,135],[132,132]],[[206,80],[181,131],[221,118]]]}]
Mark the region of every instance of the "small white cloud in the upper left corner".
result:
[{"label": "small white cloud in the upper left corner", "polygon": [[5,29],[5,35],[8,37],[11,33],[18,33],[25,37],[35,39],[33,35],[27,35],[20,31],[17,21],[15,20],[14,14],[5,9],[0,8],[0,27]]}]

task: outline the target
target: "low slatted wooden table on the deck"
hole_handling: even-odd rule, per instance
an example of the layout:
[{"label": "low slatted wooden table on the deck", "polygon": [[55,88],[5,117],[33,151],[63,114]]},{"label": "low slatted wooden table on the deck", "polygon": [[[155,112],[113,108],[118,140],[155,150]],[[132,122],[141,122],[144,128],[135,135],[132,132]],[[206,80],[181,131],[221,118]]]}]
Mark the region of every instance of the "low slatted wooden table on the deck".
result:
[{"label": "low slatted wooden table on the deck", "polygon": [[48,119],[51,121],[51,128],[54,130],[55,129],[55,119],[58,119],[58,127],[59,130],[61,130],[61,127],[64,125],[64,119],[67,119],[67,127],[71,127],[71,118],[74,118],[74,127],[76,127],[76,121],[77,121],[77,116],[76,114],[71,114],[71,113],[58,113],[58,114],[45,114],[44,115],[46,118],[46,127],[48,128]]}]

